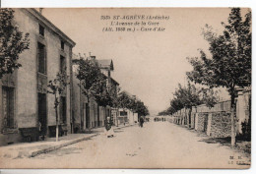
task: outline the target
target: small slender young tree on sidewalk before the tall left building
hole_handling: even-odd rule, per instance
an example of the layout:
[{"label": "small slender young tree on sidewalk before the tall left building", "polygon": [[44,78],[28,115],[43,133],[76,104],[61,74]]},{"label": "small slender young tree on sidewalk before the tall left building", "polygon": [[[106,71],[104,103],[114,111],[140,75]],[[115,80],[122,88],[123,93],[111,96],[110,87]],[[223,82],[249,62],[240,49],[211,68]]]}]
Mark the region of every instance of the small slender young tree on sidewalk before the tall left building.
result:
[{"label": "small slender young tree on sidewalk before the tall left building", "polygon": [[48,83],[48,93],[54,95],[54,109],[56,116],[56,142],[58,142],[59,137],[59,115],[58,115],[58,106],[60,104],[60,96],[65,91],[68,82],[68,76],[66,75],[66,71],[62,73],[57,73],[56,78],[53,81],[49,81]]}]

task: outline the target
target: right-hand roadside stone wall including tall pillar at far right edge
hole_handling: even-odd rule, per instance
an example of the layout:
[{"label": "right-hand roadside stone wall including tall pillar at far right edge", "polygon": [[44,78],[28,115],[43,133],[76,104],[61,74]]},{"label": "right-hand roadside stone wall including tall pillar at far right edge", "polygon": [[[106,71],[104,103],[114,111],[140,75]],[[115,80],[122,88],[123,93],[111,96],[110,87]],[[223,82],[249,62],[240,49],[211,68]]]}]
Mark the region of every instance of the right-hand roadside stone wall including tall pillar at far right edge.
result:
[{"label": "right-hand roadside stone wall including tall pillar at far right edge", "polygon": [[[250,88],[237,88],[235,101],[236,136],[250,136],[248,135],[251,129]],[[205,104],[194,106],[192,109],[183,108],[171,116],[171,122],[205,132],[213,138],[225,138],[231,136],[230,114],[230,101],[222,101],[211,108]]]}]

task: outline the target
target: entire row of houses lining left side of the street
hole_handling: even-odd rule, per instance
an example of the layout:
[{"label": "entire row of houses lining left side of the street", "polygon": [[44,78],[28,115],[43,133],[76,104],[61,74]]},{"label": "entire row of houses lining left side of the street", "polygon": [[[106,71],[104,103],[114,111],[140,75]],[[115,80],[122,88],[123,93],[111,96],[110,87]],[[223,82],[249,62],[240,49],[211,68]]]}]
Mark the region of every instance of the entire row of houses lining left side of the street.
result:
[{"label": "entire row of houses lining left side of the street", "polygon": [[[116,125],[136,122],[136,113],[99,106],[82,94],[75,76],[75,59],[81,58],[72,51],[75,41],[39,11],[15,9],[13,25],[30,33],[30,49],[20,55],[22,67],[0,80],[0,145],[37,141],[38,129],[47,137],[55,135],[54,96],[47,93],[47,85],[58,72],[65,71],[70,77],[70,84],[60,97],[61,135],[102,127],[107,116]],[[89,58],[96,59],[91,55]],[[111,78],[112,60],[96,61],[108,85],[118,87]]]}]

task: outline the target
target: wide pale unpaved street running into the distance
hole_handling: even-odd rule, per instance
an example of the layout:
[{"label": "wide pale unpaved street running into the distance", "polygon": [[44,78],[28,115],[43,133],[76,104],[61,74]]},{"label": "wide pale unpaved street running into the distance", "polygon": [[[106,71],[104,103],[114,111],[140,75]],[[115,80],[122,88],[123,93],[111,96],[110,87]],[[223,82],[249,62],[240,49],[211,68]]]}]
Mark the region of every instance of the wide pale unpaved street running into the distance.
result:
[{"label": "wide pale unpaved street running into the distance", "polygon": [[248,168],[236,165],[238,158],[245,163],[249,160],[228,146],[203,142],[186,128],[150,122],[143,128],[135,125],[116,130],[114,138],[99,135],[32,158],[1,162],[16,168]]}]

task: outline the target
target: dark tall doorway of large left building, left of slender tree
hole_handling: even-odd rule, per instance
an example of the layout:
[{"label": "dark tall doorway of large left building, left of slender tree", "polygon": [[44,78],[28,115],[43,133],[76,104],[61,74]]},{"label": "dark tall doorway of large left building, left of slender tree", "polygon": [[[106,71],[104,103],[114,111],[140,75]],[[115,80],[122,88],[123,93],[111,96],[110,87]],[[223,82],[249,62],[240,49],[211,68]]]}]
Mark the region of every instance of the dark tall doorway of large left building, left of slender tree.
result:
[{"label": "dark tall doorway of large left building, left of slender tree", "polygon": [[41,135],[47,133],[46,93],[38,93],[38,125]]}]

